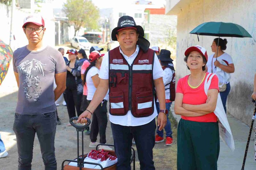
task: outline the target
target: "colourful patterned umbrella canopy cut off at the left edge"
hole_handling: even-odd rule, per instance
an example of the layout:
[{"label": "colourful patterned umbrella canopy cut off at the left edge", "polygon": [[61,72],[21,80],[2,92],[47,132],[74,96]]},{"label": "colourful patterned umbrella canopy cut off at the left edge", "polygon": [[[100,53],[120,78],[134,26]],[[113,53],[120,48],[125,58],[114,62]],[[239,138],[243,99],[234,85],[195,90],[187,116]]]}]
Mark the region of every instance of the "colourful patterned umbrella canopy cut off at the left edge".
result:
[{"label": "colourful patterned umbrella canopy cut off at the left edge", "polygon": [[12,49],[0,39],[0,85],[10,66]]}]

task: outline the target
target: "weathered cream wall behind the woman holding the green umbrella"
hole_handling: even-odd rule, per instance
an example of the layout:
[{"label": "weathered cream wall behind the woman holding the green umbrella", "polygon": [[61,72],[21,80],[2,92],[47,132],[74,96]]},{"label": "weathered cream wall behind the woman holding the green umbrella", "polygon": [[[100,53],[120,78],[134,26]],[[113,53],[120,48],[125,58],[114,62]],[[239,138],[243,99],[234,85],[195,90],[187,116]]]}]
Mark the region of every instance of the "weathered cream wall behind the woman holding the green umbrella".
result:
[{"label": "weathered cream wall behind the woman holding the green umbrella", "polygon": [[[168,0],[167,0],[168,1]],[[170,4],[169,0],[169,4]],[[167,2],[166,2],[167,3]],[[189,74],[183,61],[189,46],[200,45],[212,54],[214,36],[189,34],[193,28],[204,22],[232,22],[244,27],[253,38],[227,37],[226,53],[233,58],[235,72],[231,74],[231,91],[227,100],[227,112],[246,124],[251,124],[253,104],[253,77],[256,72],[256,1],[255,0],[194,0],[176,13],[177,19],[177,61],[176,78]],[[168,13],[169,11],[166,11]]]}]

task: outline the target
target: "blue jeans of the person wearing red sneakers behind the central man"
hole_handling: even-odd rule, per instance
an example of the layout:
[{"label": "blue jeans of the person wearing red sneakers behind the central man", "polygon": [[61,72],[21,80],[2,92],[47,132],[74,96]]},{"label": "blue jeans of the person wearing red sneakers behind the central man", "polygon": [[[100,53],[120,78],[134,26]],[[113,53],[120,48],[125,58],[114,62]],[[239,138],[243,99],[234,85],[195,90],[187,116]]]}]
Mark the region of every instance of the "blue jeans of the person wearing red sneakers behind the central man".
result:
[{"label": "blue jeans of the person wearing red sneakers behind the central man", "polygon": [[[156,107],[157,107],[157,113],[159,114],[159,110],[160,110],[160,105],[158,102],[155,103],[156,104]],[[171,103],[165,103],[165,108],[169,111],[170,110],[170,107],[171,107]],[[168,118],[169,116],[169,113],[167,114],[167,123],[166,123],[166,126],[165,126],[165,132],[166,132],[166,137],[173,137],[172,134],[172,128],[171,128],[171,122]],[[158,136],[162,137],[163,138],[163,130],[159,131],[159,126],[157,127],[157,134]]]}]

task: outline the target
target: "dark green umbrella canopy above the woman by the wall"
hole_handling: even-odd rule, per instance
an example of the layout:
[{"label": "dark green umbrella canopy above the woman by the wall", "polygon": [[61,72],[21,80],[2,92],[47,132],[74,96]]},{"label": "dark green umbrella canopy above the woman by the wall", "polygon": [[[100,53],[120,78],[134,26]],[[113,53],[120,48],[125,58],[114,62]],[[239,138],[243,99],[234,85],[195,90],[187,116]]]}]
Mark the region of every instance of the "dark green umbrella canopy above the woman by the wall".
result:
[{"label": "dark green umbrella canopy above the woman by the wall", "polygon": [[252,38],[252,36],[240,25],[225,22],[206,22],[200,24],[189,32],[189,34]]}]

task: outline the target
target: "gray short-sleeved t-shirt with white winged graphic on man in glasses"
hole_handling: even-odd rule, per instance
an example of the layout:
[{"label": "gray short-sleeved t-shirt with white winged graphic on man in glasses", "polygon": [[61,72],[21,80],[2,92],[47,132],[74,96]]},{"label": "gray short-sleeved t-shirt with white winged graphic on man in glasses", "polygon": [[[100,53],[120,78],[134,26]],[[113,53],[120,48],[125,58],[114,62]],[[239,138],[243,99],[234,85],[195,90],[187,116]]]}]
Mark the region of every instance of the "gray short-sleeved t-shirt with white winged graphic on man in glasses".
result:
[{"label": "gray short-sleeved t-shirt with white winged graphic on man in glasses", "polygon": [[24,46],[14,51],[12,63],[14,72],[19,74],[16,113],[39,115],[54,112],[55,74],[67,71],[61,53],[50,46],[37,52]]}]

